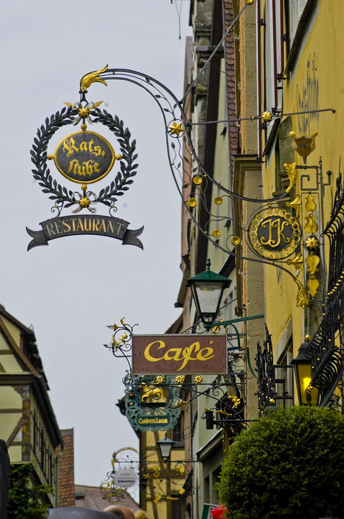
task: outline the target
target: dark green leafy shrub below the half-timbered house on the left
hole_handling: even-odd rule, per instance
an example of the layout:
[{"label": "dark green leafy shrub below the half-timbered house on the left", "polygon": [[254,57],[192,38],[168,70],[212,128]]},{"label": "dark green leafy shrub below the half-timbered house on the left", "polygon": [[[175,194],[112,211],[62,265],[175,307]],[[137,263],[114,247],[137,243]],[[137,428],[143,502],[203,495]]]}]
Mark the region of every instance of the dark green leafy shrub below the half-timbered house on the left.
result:
[{"label": "dark green leafy shrub below the half-timbered house on the left", "polygon": [[11,465],[7,519],[46,519],[49,504],[47,495],[52,488],[47,485],[32,486],[32,465]]}]

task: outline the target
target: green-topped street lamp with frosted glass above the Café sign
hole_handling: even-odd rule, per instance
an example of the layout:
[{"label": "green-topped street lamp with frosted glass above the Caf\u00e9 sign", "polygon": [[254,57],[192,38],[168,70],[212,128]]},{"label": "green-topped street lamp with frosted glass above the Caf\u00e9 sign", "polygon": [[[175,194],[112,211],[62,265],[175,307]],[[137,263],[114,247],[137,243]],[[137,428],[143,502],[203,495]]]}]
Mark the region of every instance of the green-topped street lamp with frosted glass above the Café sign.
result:
[{"label": "green-topped street lamp with frosted glass above the Caf\u00e9 sign", "polygon": [[196,310],[200,320],[210,327],[219,313],[222,294],[231,284],[231,280],[210,270],[210,259],[207,270],[189,278],[185,286],[190,286]]}]

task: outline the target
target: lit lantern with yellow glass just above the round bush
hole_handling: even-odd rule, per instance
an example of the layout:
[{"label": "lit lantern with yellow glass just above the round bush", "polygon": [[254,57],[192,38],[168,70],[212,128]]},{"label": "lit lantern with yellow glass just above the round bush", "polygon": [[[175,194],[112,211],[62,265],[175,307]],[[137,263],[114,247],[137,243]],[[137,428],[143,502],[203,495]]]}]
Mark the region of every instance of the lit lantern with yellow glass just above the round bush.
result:
[{"label": "lit lantern with yellow glass just above the round bush", "polygon": [[[306,336],[306,338],[308,337],[309,336]],[[302,343],[298,349],[297,357],[292,360],[298,402],[300,405],[318,405],[319,390],[310,385],[312,380],[312,366],[310,359],[306,356],[308,344],[308,341]]]}]

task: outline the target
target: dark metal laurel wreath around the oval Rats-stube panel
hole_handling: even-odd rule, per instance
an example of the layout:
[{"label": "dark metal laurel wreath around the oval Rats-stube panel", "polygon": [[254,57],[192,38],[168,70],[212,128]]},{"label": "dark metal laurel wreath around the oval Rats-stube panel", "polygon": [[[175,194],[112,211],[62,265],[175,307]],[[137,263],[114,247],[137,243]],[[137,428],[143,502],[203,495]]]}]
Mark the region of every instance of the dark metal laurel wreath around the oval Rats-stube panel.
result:
[{"label": "dark metal laurel wreath around the oval Rats-stube panel", "polygon": [[[31,160],[36,167],[36,169],[32,170],[33,177],[39,181],[38,184],[41,186],[43,193],[50,193],[49,198],[55,201],[56,207],[60,204],[60,206],[67,208],[78,204],[79,200],[75,198],[74,191],[67,190],[66,187],[61,186],[51,176],[47,166],[47,148],[54,133],[63,126],[73,124],[77,115],[78,110],[69,106],[68,108],[63,108],[61,112],[53,114],[50,119],[47,117],[45,125],[41,125],[37,129],[37,138],[34,138],[31,150]],[[109,186],[101,189],[93,200],[93,202],[100,202],[110,208],[114,208],[114,202],[117,201],[117,197],[124,195],[125,191],[129,189],[128,185],[133,183],[132,177],[137,173],[138,164],[133,163],[137,159],[137,154],[134,154],[136,141],[130,142],[131,133],[128,128],[124,129],[123,121],[117,115],[112,117],[106,110],[102,111],[100,108],[90,111],[90,115],[95,117],[93,122],[100,122],[107,126],[117,137],[117,142],[120,145],[122,155],[120,171],[118,171],[114,181]]]}]

